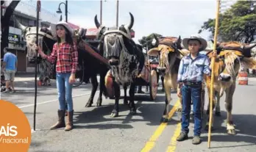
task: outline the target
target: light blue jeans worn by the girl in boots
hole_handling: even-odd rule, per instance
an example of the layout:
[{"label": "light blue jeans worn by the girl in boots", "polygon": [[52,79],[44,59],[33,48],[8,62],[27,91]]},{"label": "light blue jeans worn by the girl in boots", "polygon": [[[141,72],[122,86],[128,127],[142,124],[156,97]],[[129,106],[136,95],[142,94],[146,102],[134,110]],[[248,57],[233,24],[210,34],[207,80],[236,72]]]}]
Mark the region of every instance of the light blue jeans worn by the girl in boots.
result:
[{"label": "light blue jeans worn by the girl in boots", "polygon": [[71,73],[56,73],[60,110],[65,110],[66,101],[68,104],[68,112],[73,110],[72,84],[68,82],[70,76]]}]

